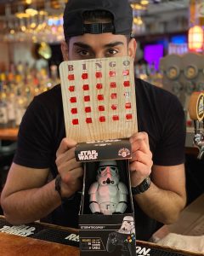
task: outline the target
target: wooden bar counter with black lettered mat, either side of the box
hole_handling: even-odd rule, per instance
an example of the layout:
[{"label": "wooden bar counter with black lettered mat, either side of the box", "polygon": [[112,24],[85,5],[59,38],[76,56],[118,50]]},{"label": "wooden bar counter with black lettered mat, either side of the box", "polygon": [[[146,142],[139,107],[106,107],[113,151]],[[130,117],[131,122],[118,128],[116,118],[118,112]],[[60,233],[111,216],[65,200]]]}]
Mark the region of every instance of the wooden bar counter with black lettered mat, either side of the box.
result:
[{"label": "wooden bar counter with black lettered mat, either side of the box", "polygon": [[[78,230],[53,224],[33,223],[20,226],[8,224],[0,216],[0,255],[1,256],[79,256]],[[161,247],[155,243],[136,241],[137,255],[148,256],[201,256],[177,250],[172,247]],[[99,252],[100,253],[100,252]],[[93,255],[93,254],[92,254]],[[107,253],[107,255],[112,255]]]}]

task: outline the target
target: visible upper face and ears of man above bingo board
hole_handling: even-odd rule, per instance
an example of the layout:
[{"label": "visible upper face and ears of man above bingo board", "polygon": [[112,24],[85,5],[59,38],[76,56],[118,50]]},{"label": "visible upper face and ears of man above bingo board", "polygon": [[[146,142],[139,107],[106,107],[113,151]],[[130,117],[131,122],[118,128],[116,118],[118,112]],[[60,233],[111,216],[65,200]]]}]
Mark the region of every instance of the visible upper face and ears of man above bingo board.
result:
[{"label": "visible upper face and ears of man above bingo board", "polygon": [[63,42],[61,49],[65,61],[127,55],[134,58],[136,42],[134,39],[128,42],[126,36],[112,33],[84,34],[72,37],[68,44]]}]

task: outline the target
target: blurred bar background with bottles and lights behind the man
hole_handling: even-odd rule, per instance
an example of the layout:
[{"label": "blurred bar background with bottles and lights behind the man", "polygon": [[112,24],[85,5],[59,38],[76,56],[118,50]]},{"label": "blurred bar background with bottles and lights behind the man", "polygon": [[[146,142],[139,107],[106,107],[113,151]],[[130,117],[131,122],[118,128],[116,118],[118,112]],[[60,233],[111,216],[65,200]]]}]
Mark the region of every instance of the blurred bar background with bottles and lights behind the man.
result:
[{"label": "blurred bar background with bottles and lights behind the man", "polygon": [[[23,114],[34,96],[59,84],[65,0],[0,0],[0,184],[14,156]],[[186,113],[188,203],[203,193],[188,105],[204,90],[204,0],[135,0],[135,75],[178,96]],[[189,130],[190,129],[190,130]],[[201,125],[203,143],[203,120]],[[203,144],[202,144],[203,145]],[[203,150],[204,147],[202,147]]]}]

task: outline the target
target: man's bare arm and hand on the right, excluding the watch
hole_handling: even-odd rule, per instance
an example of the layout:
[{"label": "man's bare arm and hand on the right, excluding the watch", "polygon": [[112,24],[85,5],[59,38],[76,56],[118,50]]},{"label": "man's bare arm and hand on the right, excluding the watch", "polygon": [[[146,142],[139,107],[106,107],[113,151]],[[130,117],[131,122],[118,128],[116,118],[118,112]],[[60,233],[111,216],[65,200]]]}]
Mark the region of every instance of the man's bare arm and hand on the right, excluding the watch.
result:
[{"label": "man's bare arm and hand on the right, excluding the watch", "polygon": [[130,142],[132,186],[139,185],[148,176],[152,180],[150,188],[142,194],[134,195],[134,199],[150,218],[163,224],[175,222],[186,203],[184,164],[154,166],[146,132],[133,134]]}]

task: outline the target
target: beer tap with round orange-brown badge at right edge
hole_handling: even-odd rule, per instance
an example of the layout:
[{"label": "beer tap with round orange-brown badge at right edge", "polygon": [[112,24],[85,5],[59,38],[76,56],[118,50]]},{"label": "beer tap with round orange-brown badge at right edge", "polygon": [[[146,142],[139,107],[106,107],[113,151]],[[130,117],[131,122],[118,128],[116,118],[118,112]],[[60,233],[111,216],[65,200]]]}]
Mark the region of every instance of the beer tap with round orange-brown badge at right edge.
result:
[{"label": "beer tap with round orange-brown badge at right edge", "polygon": [[199,149],[197,158],[204,156],[204,92],[193,92],[189,104],[190,119],[194,120],[194,144]]}]

